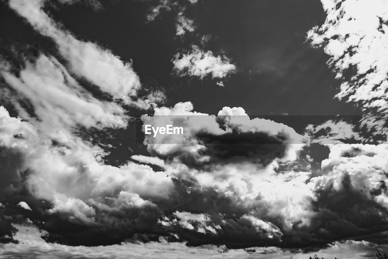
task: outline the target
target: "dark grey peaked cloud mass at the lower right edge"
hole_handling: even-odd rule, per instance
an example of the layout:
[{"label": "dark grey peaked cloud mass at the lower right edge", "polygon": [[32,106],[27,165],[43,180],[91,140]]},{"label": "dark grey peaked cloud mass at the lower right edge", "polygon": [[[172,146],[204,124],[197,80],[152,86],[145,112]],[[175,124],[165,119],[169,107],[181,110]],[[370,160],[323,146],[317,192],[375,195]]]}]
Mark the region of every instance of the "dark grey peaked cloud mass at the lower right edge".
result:
[{"label": "dark grey peaked cloud mass at the lower right edge", "polygon": [[340,189],[336,190],[331,182],[318,189],[315,195],[317,200],[312,201],[314,216],[310,224],[290,232],[284,231],[284,247],[300,247],[311,252],[314,247],[319,250],[334,241],[358,236],[369,241],[367,236],[388,229],[387,208],[369,193],[355,189],[349,175],[341,179]]}]

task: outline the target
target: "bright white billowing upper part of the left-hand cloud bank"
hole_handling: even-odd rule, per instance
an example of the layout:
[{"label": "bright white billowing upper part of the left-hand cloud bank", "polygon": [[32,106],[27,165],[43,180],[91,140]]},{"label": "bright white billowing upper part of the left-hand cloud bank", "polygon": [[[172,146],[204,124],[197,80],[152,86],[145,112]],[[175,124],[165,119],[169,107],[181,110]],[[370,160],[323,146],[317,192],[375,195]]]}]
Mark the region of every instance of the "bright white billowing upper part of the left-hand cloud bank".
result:
[{"label": "bright white billowing upper part of the left-hand cloud bank", "polygon": [[[87,146],[78,144],[79,140],[73,146],[52,146],[49,138],[28,122],[10,117],[3,107],[0,107],[0,125],[2,148],[19,152],[23,157],[23,162],[17,165],[18,171],[28,168],[26,187],[36,199],[53,203],[49,213],[61,212],[68,214],[69,219],[95,222],[92,205],[109,208],[104,205],[106,196],[120,203],[125,199],[135,207],[145,202],[140,198],[143,195],[167,197],[171,182],[163,172],[136,163],[120,168],[102,165]],[[116,191],[120,194],[114,197]]]}]

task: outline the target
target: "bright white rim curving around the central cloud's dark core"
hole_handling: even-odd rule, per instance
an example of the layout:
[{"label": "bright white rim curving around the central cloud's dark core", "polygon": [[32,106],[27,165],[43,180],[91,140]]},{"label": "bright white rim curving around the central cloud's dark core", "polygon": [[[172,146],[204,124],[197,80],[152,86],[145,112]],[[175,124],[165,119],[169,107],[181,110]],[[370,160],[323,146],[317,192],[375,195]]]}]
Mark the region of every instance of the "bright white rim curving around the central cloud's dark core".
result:
[{"label": "bright white rim curving around the central cloud's dark core", "polygon": [[[158,154],[167,155],[176,152],[190,152],[197,159],[205,162],[207,156],[199,155],[205,148],[200,138],[196,136],[201,133],[214,136],[225,136],[232,132],[241,133],[264,133],[269,136],[284,134],[288,140],[285,140],[287,148],[285,154],[279,157],[279,161],[288,161],[296,158],[296,151],[303,146],[303,136],[297,134],[294,129],[274,121],[266,119],[249,119],[241,107],[224,107],[218,116],[210,116],[192,112],[193,105],[190,102],[178,103],[173,108],[155,108],[154,117],[144,115],[142,120],[144,124],[156,126],[165,126],[172,124],[184,128],[183,135],[146,135],[145,144],[149,151],[156,151]],[[222,129],[221,126],[226,127]],[[229,144],[229,143],[227,143]],[[268,143],[263,143],[268,144]]]}]

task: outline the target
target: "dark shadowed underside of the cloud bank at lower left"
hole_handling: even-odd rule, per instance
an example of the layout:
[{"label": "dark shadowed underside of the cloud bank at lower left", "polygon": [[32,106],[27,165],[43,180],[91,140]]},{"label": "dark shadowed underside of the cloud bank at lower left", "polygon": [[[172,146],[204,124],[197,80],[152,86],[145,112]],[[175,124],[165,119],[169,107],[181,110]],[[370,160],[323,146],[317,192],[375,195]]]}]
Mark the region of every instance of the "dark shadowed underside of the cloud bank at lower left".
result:
[{"label": "dark shadowed underside of the cloud bank at lower left", "polygon": [[[17,232],[12,224],[21,224],[27,219],[38,228],[47,231],[42,236],[44,240],[65,245],[112,245],[132,238],[136,233],[153,234],[155,240],[158,240],[159,235],[163,235],[158,226],[158,219],[161,217],[158,207],[152,204],[142,207],[126,205],[123,202],[126,194],[123,193],[119,193],[117,199],[107,199],[101,208],[96,206],[93,223],[69,220],[71,212],[49,213],[54,204],[34,198],[25,182],[33,172],[29,170],[17,172],[17,167],[23,167],[22,163],[18,163],[20,157],[15,158],[13,152],[2,150],[2,158],[7,163],[1,163],[0,174],[1,243],[17,242],[12,237]],[[121,201],[120,198],[124,200]],[[31,210],[18,207],[17,203],[20,201],[26,202]]]}]

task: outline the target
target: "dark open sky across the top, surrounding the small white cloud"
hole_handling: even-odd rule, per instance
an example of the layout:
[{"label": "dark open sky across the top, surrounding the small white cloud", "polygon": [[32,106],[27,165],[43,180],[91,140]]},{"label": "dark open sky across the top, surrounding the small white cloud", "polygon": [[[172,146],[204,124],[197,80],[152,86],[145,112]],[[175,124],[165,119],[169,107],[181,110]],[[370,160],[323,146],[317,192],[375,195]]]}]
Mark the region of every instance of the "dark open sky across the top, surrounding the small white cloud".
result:
[{"label": "dark open sky across the top, surrounding the small white cloud", "polygon": [[[329,56],[305,43],[307,31],[325,19],[319,0],[199,1],[187,5],[185,12],[197,29],[183,38],[175,36],[176,10],[162,11],[155,21],[145,23],[149,4],[105,2],[103,11],[75,4],[50,12],[81,39],[98,42],[123,60],[132,59],[145,87],[165,87],[171,104],[191,101],[196,111],[209,114],[224,106],[243,107],[249,115],[360,114],[352,104],[334,98],[340,81],[326,65]],[[3,39],[50,45],[38,35],[30,37],[33,32],[25,32],[29,25],[2,10]],[[224,53],[237,67],[223,79],[225,87],[217,86],[210,75],[201,80],[172,74],[173,55],[209,34],[206,49]]]}]

